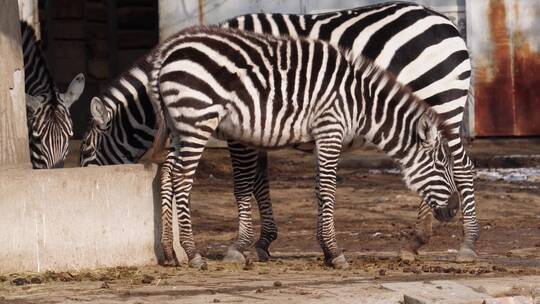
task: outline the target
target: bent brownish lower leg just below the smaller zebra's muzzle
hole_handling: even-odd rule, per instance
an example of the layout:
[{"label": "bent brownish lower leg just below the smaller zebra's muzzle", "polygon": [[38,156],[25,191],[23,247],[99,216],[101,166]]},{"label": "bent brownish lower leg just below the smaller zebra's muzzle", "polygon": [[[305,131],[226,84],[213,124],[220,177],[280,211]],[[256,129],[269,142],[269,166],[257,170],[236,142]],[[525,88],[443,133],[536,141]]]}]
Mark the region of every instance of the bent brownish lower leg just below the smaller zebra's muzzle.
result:
[{"label": "bent brownish lower leg just below the smaller zebra's muzzle", "polygon": [[406,248],[399,252],[399,258],[405,261],[414,261],[418,257],[418,249],[429,242],[432,229],[433,214],[429,206],[422,201],[418,208],[418,218],[414,227],[411,240]]}]

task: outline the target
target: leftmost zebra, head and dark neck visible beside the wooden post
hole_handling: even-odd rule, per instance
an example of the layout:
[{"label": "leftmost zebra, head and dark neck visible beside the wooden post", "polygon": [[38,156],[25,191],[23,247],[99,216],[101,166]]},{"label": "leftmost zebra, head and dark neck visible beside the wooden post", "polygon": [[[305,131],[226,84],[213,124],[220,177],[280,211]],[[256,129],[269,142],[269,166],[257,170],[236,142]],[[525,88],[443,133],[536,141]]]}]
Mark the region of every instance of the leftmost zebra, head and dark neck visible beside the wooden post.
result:
[{"label": "leftmost zebra, head and dark neck visible beside the wooden post", "polygon": [[84,89],[78,74],[65,93],[59,93],[32,26],[21,21],[24,84],[30,157],[35,169],[64,166],[73,123],[69,107]]}]

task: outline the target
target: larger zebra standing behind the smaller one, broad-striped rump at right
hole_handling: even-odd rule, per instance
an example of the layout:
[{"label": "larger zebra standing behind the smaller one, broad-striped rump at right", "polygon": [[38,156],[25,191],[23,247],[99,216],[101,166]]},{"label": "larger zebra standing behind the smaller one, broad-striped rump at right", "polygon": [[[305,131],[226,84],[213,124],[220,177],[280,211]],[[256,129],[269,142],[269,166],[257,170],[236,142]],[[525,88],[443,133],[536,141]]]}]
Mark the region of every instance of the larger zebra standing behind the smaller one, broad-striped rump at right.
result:
[{"label": "larger zebra standing behind the smaller one, broad-striped rump at right", "polygon": [[[416,21],[416,22],[415,22]],[[416,34],[418,29],[413,26],[420,23],[420,30],[423,32]],[[284,26],[285,25],[285,26]],[[413,92],[420,94],[425,98],[436,112],[440,112],[446,119],[447,124],[453,126],[451,138],[449,141],[450,150],[454,157],[454,177],[463,199],[462,212],[464,218],[464,240],[458,252],[458,260],[474,259],[474,242],[478,237],[478,225],[476,221],[476,211],[474,203],[473,188],[473,166],[472,162],[465,154],[463,145],[458,136],[459,126],[462,121],[463,106],[469,88],[470,61],[467,49],[463,39],[460,37],[456,27],[443,15],[427,9],[423,6],[405,3],[390,2],[374,6],[359,7],[351,10],[337,11],[325,14],[313,15],[283,15],[283,14],[254,14],[244,15],[233,18],[223,24],[225,27],[238,27],[244,30],[262,31],[273,35],[285,34],[296,36],[305,36],[311,38],[321,38],[329,40],[333,44],[339,44],[342,48],[351,49],[352,54],[359,54],[372,59],[377,65],[388,68],[398,80],[413,85]],[[388,27],[392,32],[388,33]],[[412,32],[412,33],[411,33]],[[382,35],[381,33],[387,33]],[[409,40],[395,39],[400,34],[407,34],[412,37]],[[416,36],[415,36],[416,35]],[[346,38],[342,38],[346,37]],[[373,38],[380,43],[379,46],[372,46]],[[355,43],[364,41],[363,44]],[[366,48],[369,45],[369,49]],[[355,46],[355,47],[353,47]],[[390,49],[390,51],[388,51]],[[371,51],[369,51],[371,50]],[[383,50],[386,50],[383,52]],[[425,60],[425,50],[432,56],[430,60]],[[385,56],[377,56],[385,53]],[[429,55],[427,54],[427,55]],[[455,59],[456,54],[459,58]],[[388,60],[387,58],[391,58]],[[420,58],[421,60],[415,60]],[[450,58],[447,60],[447,58]],[[437,61],[438,60],[438,61]],[[389,62],[389,63],[388,63]],[[427,63],[427,64],[426,64]],[[431,65],[430,65],[431,64]],[[139,67],[141,69],[141,67]],[[123,83],[114,83],[111,87],[124,87],[127,82],[131,82],[128,87],[144,88],[146,86],[147,72],[136,73],[125,79]],[[424,76],[431,72],[431,77]],[[139,77],[139,78],[138,78]],[[414,80],[419,81],[415,82]],[[443,80],[443,81],[441,81]],[[423,84],[423,85],[420,85]],[[426,90],[425,88],[428,88]],[[126,89],[121,89],[125,91]],[[103,136],[105,149],[92,145],[90,138],[93,138],[92,131],[87,134],[89,140],[83,141],[81,146],[81,160],[85,159],[88,164],[116,164],[136,162],[150,147],[151,140],[154,137],[154,120],[148,120],[150,124],[144,124],[141,117],[150,117],[153,113],[141,111],[141,109],[150,109],[148,98],[145,94],[141,95],[143,90],[137,89],[142,101],[137,107],[123,106],[121,98],[118,100],[110,93],[107,94],[106,106],[114,117],[112,125],[122,131],[112,131]],[[143,106],[141,106],[143,105]],[[119,109],[118,112],[117,109]],[[131,111],[136,111],[131,113]],[[445,112],[446,111],[446,112]],[[146,114],[141,114],[146,113]],[[129,119],[128,119],[129,118]],[[135,122],[135,123],[133,123]],[[141,127],[144,126],[144,127]],[[117,129],[113,127],[113,130]],[[128,128],[130,131],[137,131],[137,137],[129,137],[129,132],[123,131]],[[94,130],[92,128],[92,130]],[[118,136],[126,134],[126,136]],[[84,144],[86,142],[86,144]],[[106,144],[105,144],[106,142]],[[97,151],[93,151],[96,150]],[[101,151],[100,151],[101,150]],[[232,149],[230,149],[232,150]],[[84,152],[86,151],[86,152]],[[94,152],[94,156],[90,157]],[[88,157],[84,157],[84,154]],[[269,258],[268,248],[270,243],[277,237],[277,226],[273,219],[272,208],[270,204],[268,173],[266,168],[267,156],[265,151],[256,151],[245,148],[243,158],[233,159],[233,164],[250,167],[255,163],[262,166],[261,170],[256,172],[256,181],[253,195],[259,205],[261,213],[262,229],[259,240],[256,242],[256,250],[260,260]],[[234,155],[231,155],[234,157]],[[460,161],[461,160],[461,161]],[[167,157],[167,162],[171,162],[172,157]],[[261,165],[264,164],[264,165]],[[169,164],[168,166],[170,166]],[[167,174],[162,175],[169,176]],[[235,175],[235,179],[239,178]],[[163,237],[164,248],[169,246],[168,252],[172,250],[172,199],[166,199],[163,203]],[[251,222],[249,217],[249,205],[239,204],[242,212],[240,214],[239,239],[236,244],[247,244],[249,238],[253,236],[251,231]],[[403,250],[402,256],[408,257],[411,251],[417,249],[429,240],[431,234],[431,216],[429,208],[422,202],[419,208],[418,223],[416,225],[416,235],[409,250]],[[240,248],[235,248],[240,247]],[[231,246],[226,257],[242,258],[240,250],[242,246]],[[167,250],[165,250],[167,252]],[[410,258],[410,257],[409,257]],[[165,259],[165,264],[174,264],[172,256]]]}]

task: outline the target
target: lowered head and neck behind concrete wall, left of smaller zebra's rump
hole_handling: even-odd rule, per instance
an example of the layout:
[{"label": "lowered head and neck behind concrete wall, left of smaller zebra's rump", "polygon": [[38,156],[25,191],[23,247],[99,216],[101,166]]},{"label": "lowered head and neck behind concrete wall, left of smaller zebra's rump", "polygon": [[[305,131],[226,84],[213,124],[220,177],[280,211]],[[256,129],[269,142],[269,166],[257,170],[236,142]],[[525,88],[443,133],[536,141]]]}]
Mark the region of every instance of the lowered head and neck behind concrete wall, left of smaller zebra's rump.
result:
[{"label": "lowered head and neck behind concrete wall, left of smaller zebra's rump", "polygon": [[154,142],[155,110],[147,92],[152,66],[141,58],[92,98],[92,121],[81,143],[80,163],[136,163]]}]

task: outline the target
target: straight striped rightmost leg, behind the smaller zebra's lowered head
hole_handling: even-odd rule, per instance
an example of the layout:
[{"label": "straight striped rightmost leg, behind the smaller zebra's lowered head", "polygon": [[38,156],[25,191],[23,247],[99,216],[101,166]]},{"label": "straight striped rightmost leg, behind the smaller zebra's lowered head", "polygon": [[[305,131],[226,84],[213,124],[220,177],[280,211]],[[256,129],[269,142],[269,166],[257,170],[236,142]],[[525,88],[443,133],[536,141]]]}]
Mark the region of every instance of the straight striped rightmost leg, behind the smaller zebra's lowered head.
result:
[{"label": "straight striped rightmost leg, behind the smaller zebra's lowered head", "polygon": [[465,150],[463,153],[463,160],[455,163],[454,166],[454,179],[461,194],[463,215],[463,242],[456,255],[456,261],[469,263],[474,262],[478,257],[474,247],[478,240],[479,228],[474,199],[474,165]]}]

